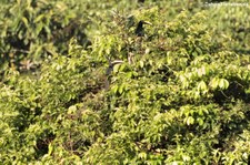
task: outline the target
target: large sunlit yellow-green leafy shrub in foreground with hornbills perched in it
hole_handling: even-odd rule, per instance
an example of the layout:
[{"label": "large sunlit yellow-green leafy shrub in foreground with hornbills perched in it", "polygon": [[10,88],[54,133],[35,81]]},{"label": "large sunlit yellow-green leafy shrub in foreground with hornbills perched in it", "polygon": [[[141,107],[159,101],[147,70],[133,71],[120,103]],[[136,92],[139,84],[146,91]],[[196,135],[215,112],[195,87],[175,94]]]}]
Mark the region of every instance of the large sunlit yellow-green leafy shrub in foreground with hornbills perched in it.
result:
[{"label": "large sunlit yellow-green leafy shrub in foreground with hornbills perched in it", "polygon": [[40,73],[6,72],[0,162],[248,164],[249,54],[213,41],[207,11],[168,14],[106,14],[88,49],[72,39]]}]

